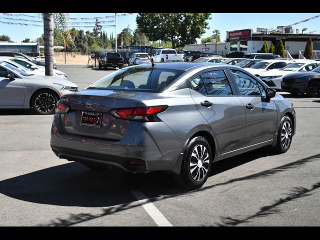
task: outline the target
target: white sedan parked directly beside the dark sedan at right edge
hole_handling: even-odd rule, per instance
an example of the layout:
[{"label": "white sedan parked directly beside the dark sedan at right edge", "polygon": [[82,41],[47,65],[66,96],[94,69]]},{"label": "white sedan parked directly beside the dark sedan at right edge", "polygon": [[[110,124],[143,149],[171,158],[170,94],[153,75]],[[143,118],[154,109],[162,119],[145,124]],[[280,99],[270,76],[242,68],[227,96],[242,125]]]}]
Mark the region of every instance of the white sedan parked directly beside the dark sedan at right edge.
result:
[{"label": "white sedan parked directly beside the dark sedan at right edge", "polygon": [[311,71],[319,65],[319,61],[296,59],[293,60],[293,63],[278,70],[264,71],[255,75],[260,77],[270,88],[281,89],[281,81],[284,75],[293,72]]}]

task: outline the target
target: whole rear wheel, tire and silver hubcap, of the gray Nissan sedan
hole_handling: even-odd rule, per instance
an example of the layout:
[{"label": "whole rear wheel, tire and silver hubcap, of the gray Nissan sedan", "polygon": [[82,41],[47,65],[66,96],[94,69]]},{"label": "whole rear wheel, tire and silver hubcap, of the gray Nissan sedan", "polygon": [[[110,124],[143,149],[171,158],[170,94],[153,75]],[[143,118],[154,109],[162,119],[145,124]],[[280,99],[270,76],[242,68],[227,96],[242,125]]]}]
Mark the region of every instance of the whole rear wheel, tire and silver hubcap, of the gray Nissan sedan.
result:
[{"label": "whole rear wheel, tire and silver hubcap, of the gray Nissan sedan", "polygon": [[188,189],[201,187],[208,178],[212,165],[212,152],[208,141],[202,136],[193,137],[183,152],[177,183]]}]

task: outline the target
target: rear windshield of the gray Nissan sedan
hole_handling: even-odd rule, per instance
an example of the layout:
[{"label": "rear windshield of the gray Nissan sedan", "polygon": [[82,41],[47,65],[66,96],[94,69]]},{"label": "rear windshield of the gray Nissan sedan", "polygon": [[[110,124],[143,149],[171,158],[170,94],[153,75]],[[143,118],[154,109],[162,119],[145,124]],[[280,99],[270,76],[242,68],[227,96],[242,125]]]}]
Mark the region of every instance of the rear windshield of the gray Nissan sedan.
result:
[{"label": "rear windshield of the gray Nissan sedan", "polygon": [[94,82],[86,89],[121,89],[129,91],[161,92],[183,70],[138,66],[115,71]]}]

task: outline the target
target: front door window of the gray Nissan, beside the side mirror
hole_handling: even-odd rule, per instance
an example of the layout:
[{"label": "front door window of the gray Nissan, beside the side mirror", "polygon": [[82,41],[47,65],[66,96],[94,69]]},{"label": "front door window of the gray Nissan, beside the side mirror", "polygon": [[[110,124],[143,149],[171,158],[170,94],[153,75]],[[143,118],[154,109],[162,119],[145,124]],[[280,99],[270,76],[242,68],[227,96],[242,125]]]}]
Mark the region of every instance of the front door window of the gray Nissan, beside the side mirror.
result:
[{"label": "front door window of the gray Nissan, beside the side mirror", "polygon": [[231,73],[234,77],[235,83],[239,88],[240,94],[243,96],[260,96],[259,87],[256,84],[256,80],[245,74],[242,71],[231,69]]}]

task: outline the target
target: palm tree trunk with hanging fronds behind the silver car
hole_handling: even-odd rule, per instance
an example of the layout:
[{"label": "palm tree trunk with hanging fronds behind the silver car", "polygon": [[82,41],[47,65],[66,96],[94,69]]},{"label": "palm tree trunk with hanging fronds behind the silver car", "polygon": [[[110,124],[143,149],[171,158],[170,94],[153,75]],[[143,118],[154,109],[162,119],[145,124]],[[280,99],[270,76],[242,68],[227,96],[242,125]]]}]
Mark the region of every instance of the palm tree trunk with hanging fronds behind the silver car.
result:
[{"label": "palm tree trunk with hanging fronds behind the silver car", "polygon": [[69,13],[42,13],[43,15],[43,41],[44,41],[44,67],[45,75],[53,75],[53,28],[58,31],[66,45],[74,45],[67,23]]}]

